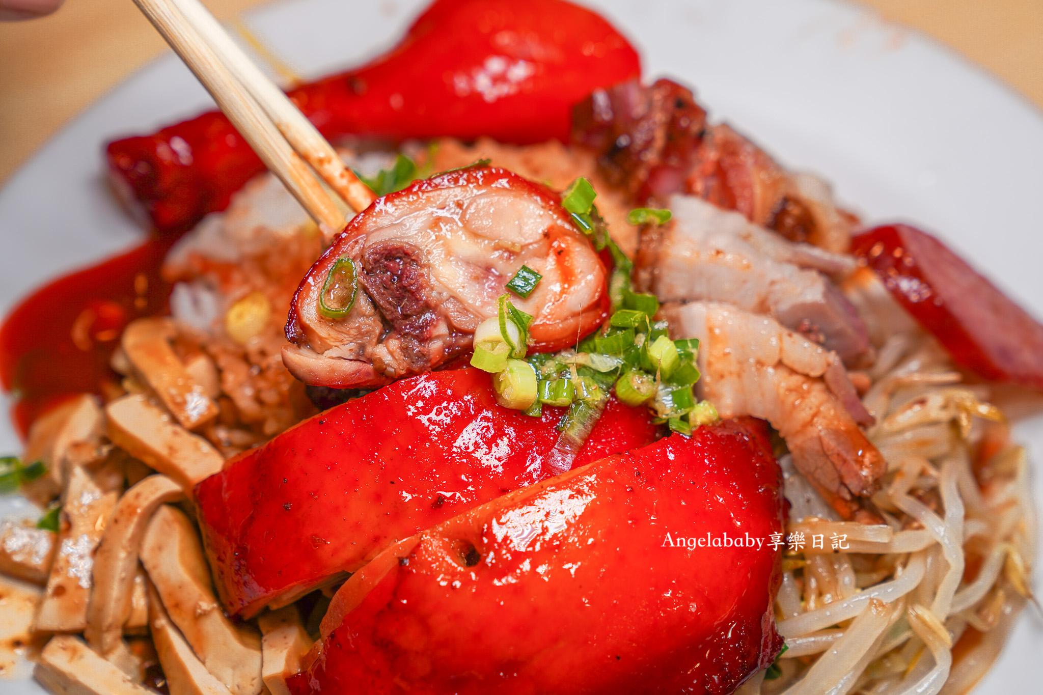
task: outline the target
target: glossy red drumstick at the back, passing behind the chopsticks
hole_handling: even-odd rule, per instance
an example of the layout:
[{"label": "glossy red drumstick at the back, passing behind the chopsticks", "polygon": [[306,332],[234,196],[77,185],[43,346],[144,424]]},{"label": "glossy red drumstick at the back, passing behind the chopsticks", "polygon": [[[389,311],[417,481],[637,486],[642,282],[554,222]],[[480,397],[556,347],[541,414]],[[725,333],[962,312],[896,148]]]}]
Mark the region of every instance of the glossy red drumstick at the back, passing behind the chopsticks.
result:
[{"label": "glossy red drumstick at the back, passing behind the chopsticks", "polygon": [[[640,74],[636,51],[597,14],[562,0],[436,0],[368,65],[289,94],[328,140],[480,135],[567,141],[569,110]],[[116,188],[165,233],[224,209],[264,165],[221,114],[110,143]]]}]

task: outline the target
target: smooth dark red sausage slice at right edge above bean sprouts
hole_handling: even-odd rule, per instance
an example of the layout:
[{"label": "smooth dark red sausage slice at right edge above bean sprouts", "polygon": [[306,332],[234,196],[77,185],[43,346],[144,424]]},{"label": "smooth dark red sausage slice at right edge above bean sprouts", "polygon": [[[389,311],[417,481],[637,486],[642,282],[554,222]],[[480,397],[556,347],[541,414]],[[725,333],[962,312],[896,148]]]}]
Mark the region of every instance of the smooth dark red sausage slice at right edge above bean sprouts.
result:
[{"label": "smooth dark red sausage slice at right edge above bean sprouts", "polygon": [[957,365],[1043,389],[1043,325],[941,241],[893,224],[858,234],[852,251]]}]

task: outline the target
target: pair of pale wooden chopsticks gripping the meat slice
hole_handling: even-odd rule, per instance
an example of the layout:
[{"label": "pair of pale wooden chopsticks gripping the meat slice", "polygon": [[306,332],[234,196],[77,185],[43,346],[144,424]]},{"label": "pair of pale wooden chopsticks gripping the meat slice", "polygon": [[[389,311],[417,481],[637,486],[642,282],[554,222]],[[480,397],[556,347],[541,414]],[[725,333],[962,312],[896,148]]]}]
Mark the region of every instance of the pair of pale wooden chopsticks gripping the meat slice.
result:
[{"label": "pair of pale wooden chopsticks gripping the meat slice", "polygon": [[[197,7],[189,8],[195,20],[193,22],[176,0],[135,0],[135,4],[202,82],[268,169],[278,176],[311,215],[328,241],[343,229],[344,215],[309,169],[306,159],[313,162],[315,170],[332,180],[331,188],[344,196],[357,212],[375,198],[372,191],[343,166],[311,122],[252,65],[202,5],[196,3]],[[213,23],[204,30],[200,30],[198,25],[209,23],[200,21],[200,16],[208,17]],[[224,44],[223,50],[215,48],[208,39],[218,33],[223,36],[223,41],[218,40],[218,44]],[[232,45],[234,50],[227,45]],[[236,54],[241,57],[229,57]],[[234,69],[232,66],[237,67]],[[246,74],[246,79],[238,77],[237,73]],[[267,89],[262,85],[267,85]],[[305,159],[295,149],[301,151]]]}]

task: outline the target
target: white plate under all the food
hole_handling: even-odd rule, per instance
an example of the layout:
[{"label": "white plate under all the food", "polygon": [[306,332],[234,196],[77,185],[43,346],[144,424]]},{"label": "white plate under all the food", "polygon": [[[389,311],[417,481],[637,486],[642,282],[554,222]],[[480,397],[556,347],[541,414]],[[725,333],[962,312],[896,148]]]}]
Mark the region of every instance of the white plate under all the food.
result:
[{"label": "white plate under all the food", "polygon": [[[421,4],[296,0],[248,17],[278,54],[317,76],[390,45]],[[641,47],[646,75],[694,85],[711,117],[787,166],[823,174],[867,220],[938,232],[1043,316],[1043,117],[1022,97],[933,42],[831,0],[591,4]],[[0,313],[42,281],[140,239],[103,187],[102,144],[209,104],[166,55],[44,146],[0,191]],[[1016,431],[1043,456],[1043,418]],[[0,418],[0,451],[18,447]],[[1043,593],[1038,577],[1036,586]],[[1038,692],[1041,653],[1043,620],[1029,610],[975,692]],[[43,691],[0,680],[0,692]]]}]

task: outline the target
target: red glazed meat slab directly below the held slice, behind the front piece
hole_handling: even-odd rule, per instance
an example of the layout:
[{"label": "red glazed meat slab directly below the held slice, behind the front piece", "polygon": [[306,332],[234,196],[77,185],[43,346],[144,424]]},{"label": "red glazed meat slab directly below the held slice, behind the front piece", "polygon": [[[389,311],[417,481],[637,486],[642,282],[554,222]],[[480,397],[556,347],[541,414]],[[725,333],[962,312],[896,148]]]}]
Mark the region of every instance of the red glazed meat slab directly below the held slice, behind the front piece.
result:
[{"label": "red glazed meat slab directly below the held slice, behind the front piece", "polygon": [[[353,572],[388,543],[547,478],[563,408],[532,418],[495,402],[478,370],[403,379],[229,461],[196,486],[199,526],[224,607]],[[612,399],[576,465],[644,446],[645,408]]]}]

